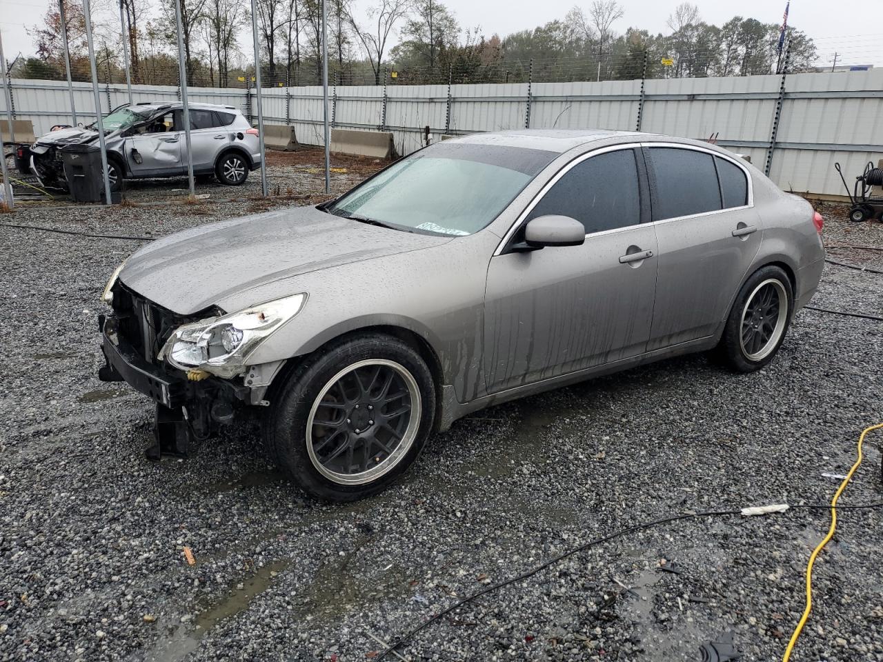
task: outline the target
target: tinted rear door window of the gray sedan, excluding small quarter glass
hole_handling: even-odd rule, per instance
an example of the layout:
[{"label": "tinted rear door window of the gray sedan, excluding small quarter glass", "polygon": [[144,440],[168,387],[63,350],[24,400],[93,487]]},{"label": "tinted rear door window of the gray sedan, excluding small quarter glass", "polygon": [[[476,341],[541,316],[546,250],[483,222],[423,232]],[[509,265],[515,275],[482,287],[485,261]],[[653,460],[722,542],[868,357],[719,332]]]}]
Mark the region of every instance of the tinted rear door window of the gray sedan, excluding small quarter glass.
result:
[{"label": "tinted rear door window of the gray sedan, excluding small quarter glass", "polygon": [[656,183],[654,221],[721,209],[712,154],[677,147],[650,147],[647,153]]}]

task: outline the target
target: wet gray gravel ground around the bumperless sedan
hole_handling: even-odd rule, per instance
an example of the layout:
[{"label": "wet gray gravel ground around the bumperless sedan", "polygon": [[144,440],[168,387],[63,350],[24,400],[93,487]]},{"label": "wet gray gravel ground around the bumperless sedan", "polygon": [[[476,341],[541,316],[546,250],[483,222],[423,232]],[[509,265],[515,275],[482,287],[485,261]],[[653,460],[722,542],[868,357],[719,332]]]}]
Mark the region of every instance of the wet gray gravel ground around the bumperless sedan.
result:
[{"label": "wet gray gravel ground around the bumperless sedan", "polygon": [[[161,235],[276,204],[42,207],[0,222]],[[883,224],[843,213],[826,209],[828,244],[883,247]],[[374,637],[614,530],[826,503],[839,481],[822,473],[848,470],[857,434],[883,420],[883,326],[804,311],[761,372],[683,357],[494,407],[430,440],[393,489],[323,505],[263,459],[253,422],[190,460],[144,459],[150,403],[95,376],[98,297],[135,245],[0,228],[0,660],[376,658]],[[881,301],[883,275],[829,266],[813,303],[880,315]],[[880,500],[881,440],[841,503]],[[841,511],[795,662],[883,660],[881,521]],[[793,509],[632,533],[477,599],[402,651],[698,660],[732,636],[742,659],[781,658],[827,526],[825,510]]]}]

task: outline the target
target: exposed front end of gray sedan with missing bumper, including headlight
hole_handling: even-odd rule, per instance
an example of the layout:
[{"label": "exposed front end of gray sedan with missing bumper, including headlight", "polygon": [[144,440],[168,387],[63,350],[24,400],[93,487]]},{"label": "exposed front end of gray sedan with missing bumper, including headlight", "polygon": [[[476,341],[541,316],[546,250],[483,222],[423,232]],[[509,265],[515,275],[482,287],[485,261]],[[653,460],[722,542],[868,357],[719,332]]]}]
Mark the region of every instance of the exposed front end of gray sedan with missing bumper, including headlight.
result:
[{"label": "exposed front end of gray sedan with missing bumper, including headlight", "polygon": [[[117,270],[118,274],[118,270]],[[188,455],[236,410],[265,404],[283,361],[247,365],[254,348],[296,315],[306,295],[228,314],[213,307],[179,315],[111,279],[100,316],[104,381],[126,381],[156,402],[155,445],[147,456]]]}]

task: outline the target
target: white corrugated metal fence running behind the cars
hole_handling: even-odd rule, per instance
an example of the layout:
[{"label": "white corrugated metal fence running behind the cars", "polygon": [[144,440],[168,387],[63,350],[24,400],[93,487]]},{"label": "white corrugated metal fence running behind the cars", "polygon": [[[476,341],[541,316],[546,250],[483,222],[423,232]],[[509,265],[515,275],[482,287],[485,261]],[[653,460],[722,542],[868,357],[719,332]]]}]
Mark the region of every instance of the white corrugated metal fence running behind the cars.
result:
[{"label": "white corrugated metal fence running behind the cars", "polygon": [[[530,89],[530,100],[528,90]],[[102,85],[102,112],[128,101],[125,85]],[[64,81],[13,80],[16,117],[30,119],[38,135],[68,124],[70,101]],[[329,102],[334,124],[393,132],[396,149],[409,154],[449,133],[532,128],[634,130],[641,81],[571,83],[337,86]],[[192,102],[230,105],[257,123],[253,90],[192,87]],[[450,95],[450,98],[449,98]],[[74,83],[80,122],[94,119],[89,83]],[[134,102],[177,101],[177,87],[132,86]],[[298,140],[321,145],[322,88],[271,87],[262,92],[265,120],[290,123]],[[784,95],[781,77],[747,76],[645,81],[642,130],[709,139],[751,155],[764,169],[781,101],[770,176],[785,190],[841,195],[834,162],[849,179],[883,155],[883,70],[791,74]],[[3,100],[0,99],[0,109]],[[384,115],[385,109],[385,115]]]}]

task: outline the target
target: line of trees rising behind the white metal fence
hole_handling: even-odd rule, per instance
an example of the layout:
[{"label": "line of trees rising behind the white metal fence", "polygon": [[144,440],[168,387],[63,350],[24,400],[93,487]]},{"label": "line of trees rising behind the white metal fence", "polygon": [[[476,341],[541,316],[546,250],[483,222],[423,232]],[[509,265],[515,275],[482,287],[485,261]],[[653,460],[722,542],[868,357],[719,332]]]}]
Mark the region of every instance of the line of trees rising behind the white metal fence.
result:
[{"label": "line of trees rising behind the white metal fence", "polygon": [[[74,79],[89,79],[85,18],[79,0],[62,0]],[[124,26],[118,11],[122,5]],[[782,66],[780,26],[735,16],[706,23],[698,7],[678,4],[665,33],[617,31],[623,6],[593,0],[561,19],[500,37],[464,28],[438,0],[327,0],[329,77],[340,84],[523,82],[748,76]],[[102,4],[103,3],[103,4]],[[252,84],[251,0],[94,0],[99,77],[125,79],[122,39],[133,83],[177,84],[175,4],[181,12],[185,69],[194,85]],[[261,76],[265,85],[321,80],[321,0],[257,0]],[[12,75],[64,77],[57,5],[29,30],[35,57],[17,58]],[[789,71],[809,71],[811,38],[789,27]]]}]

